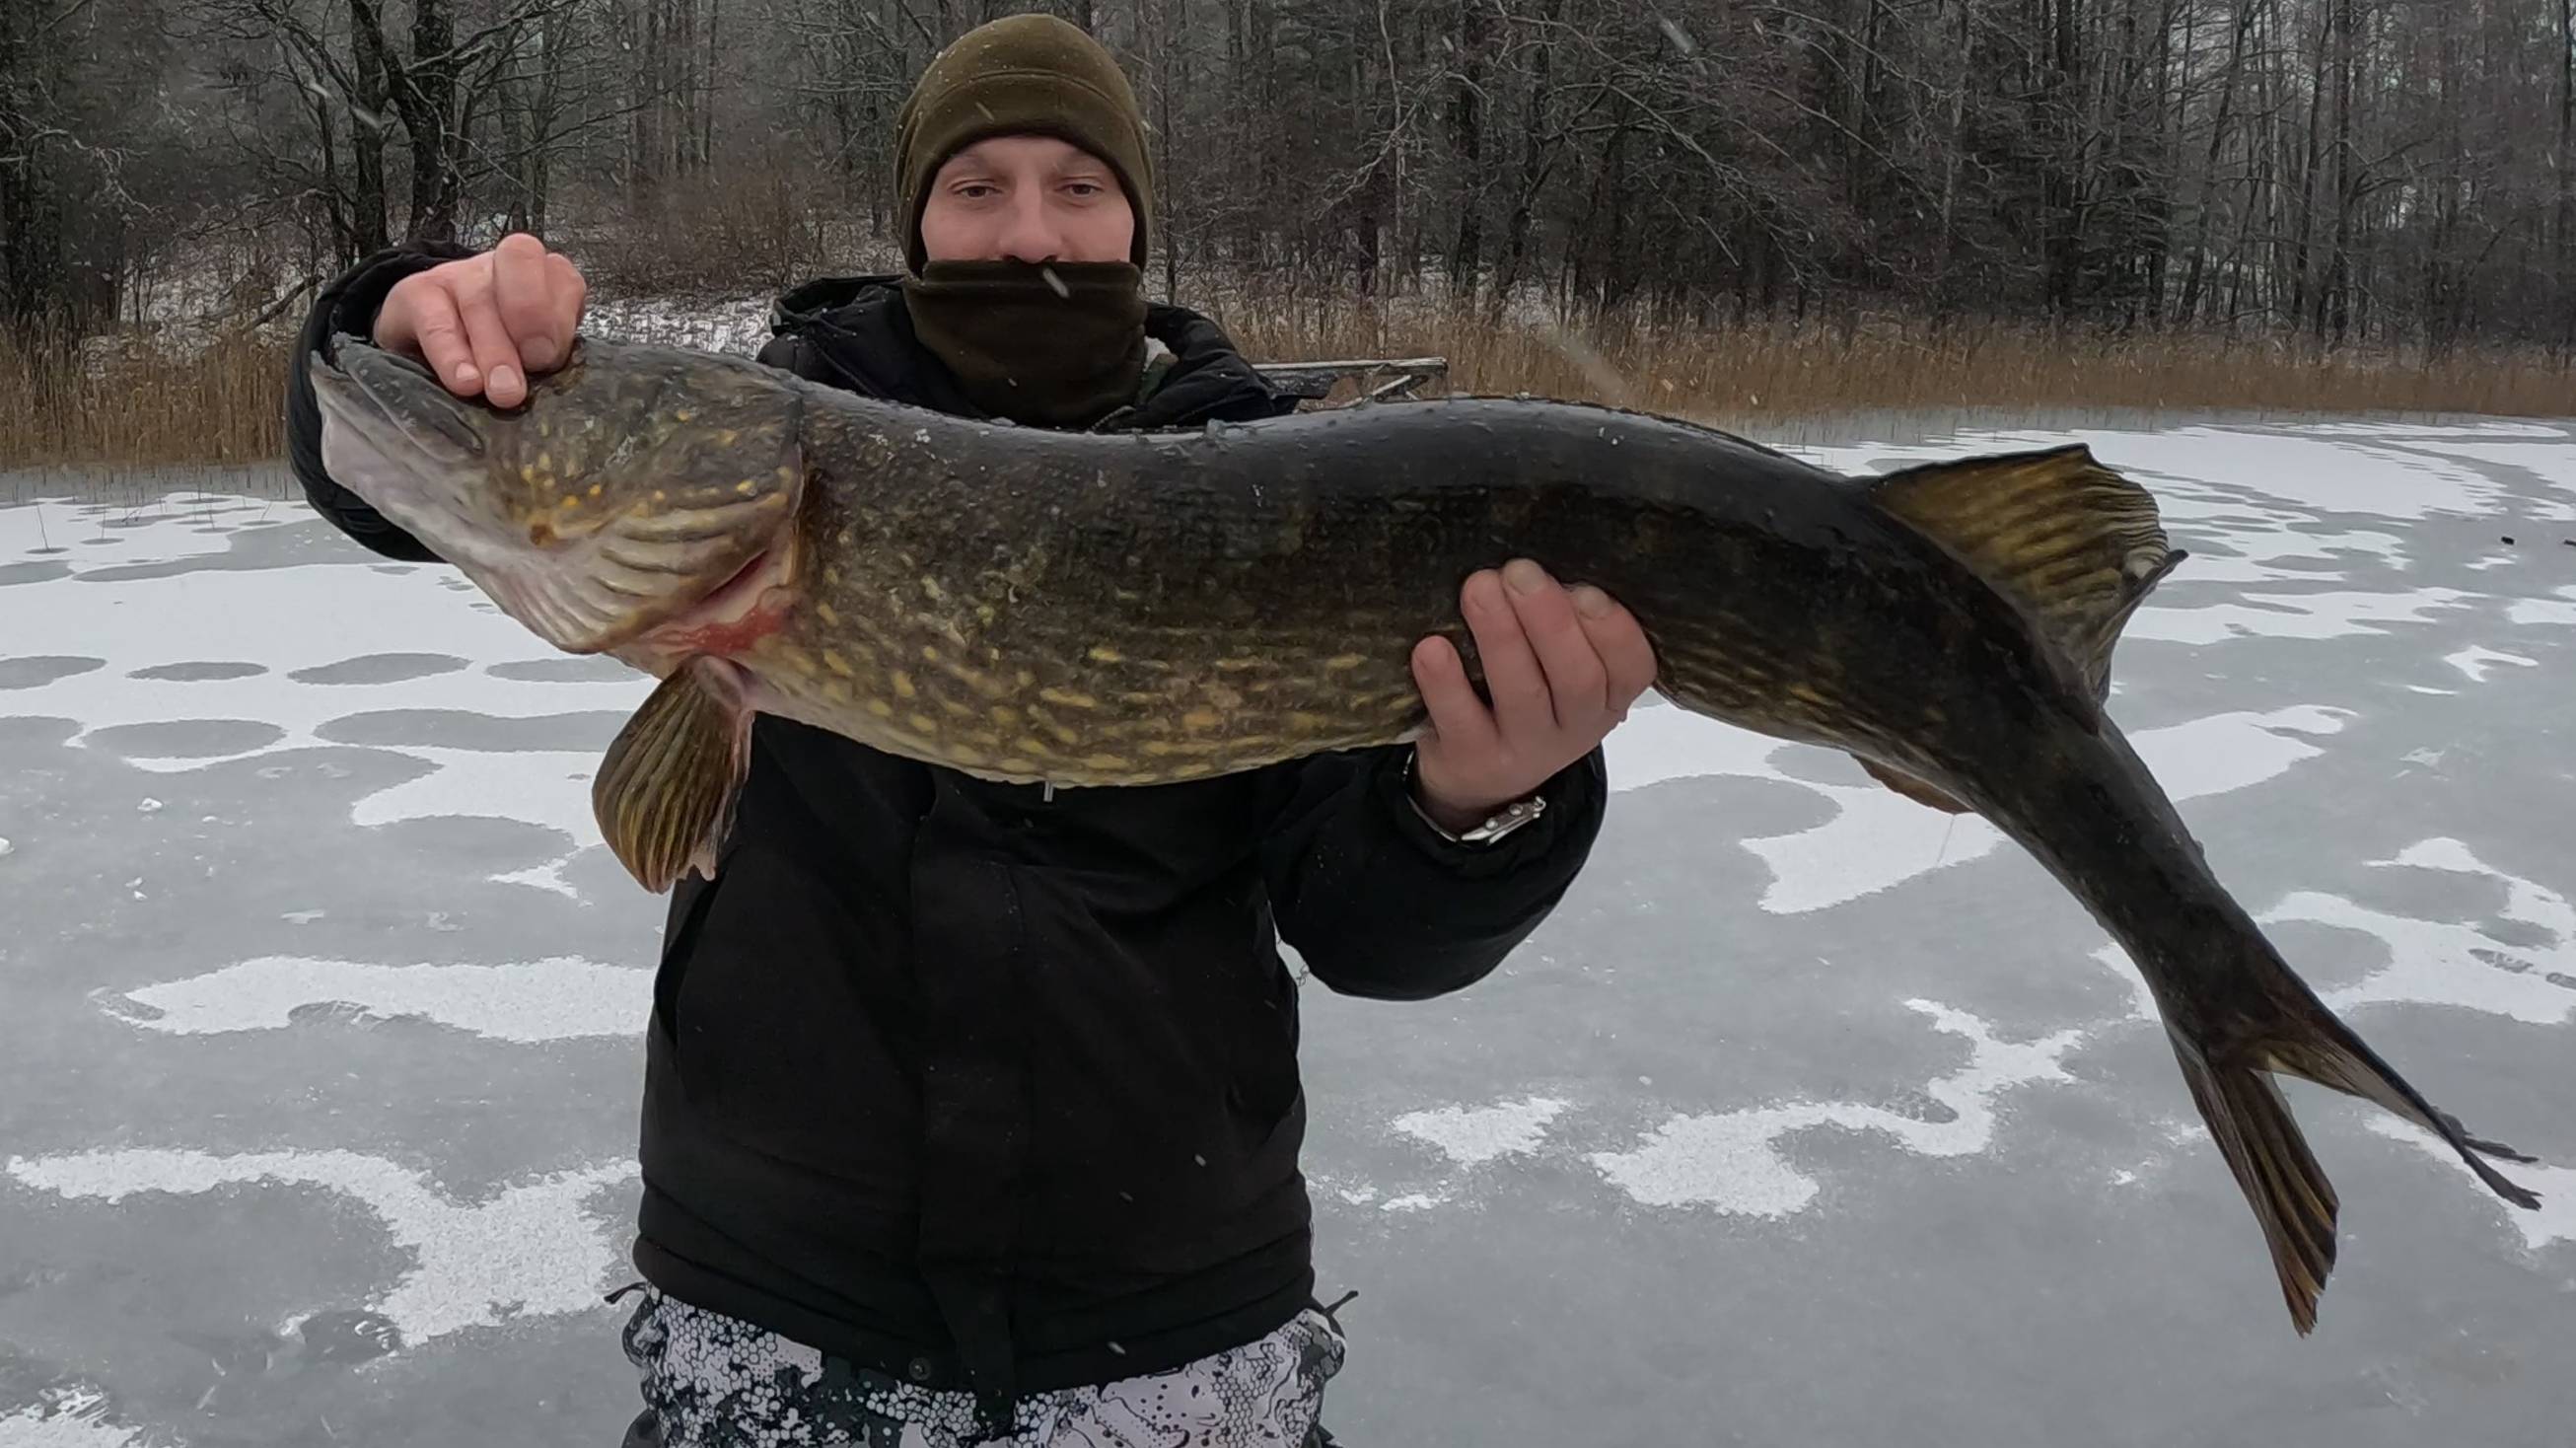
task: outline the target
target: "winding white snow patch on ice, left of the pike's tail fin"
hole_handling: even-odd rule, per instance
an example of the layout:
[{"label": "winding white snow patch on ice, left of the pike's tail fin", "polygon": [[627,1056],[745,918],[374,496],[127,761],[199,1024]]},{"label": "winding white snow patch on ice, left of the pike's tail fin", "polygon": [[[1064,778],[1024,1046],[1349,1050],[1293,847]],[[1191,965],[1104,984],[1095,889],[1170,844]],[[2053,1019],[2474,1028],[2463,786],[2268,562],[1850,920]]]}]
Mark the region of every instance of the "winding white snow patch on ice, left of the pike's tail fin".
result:
[{"label": "winding white snow patch on ice, left of the pike's tail fin", "polygon": [[1643,1206],[1710,1206],[1734,1216],[1790,1216],[1816,1201],[1816,1180],[1788,1165],[1780,1144],[1816,1126],[1880,1131],[1922,1157],[1965,1157],[1994,1141],[1994,1098],[2030,1082],[2071,1082],[2058,1064],[2084,1041],[2081,1028],[2038,1041],[1999,1041],[1976,1015],[1932,1000],[1909,1000],[1937,1031],[1968,1038],[1968,1062],[1924,1082],[1924,1095],[1953,1110],[1950,1121],[1917,1121],[1883,1105],[1793,1100],[1716,1116],[1674,1116],[1633,1152],[1595,1152],[1592,1165]]}]

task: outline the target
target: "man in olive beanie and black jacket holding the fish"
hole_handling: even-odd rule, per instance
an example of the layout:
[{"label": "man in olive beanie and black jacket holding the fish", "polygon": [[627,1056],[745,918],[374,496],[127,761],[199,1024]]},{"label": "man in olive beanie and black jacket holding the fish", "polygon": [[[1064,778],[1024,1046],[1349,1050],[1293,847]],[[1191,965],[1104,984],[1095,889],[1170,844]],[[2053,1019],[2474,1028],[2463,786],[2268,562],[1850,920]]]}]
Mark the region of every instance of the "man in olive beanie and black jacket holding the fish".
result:
[{"label": "man in olive beanie and black jacket holding the fish", "polygon": [[[899,126],[907,273],[786,294],[762,361],[1043,428],[1293,407],[1141,299],[1144,124],[1079,28],[971,31]],[[371,335],[510,407],[580,309],[531,237],[399,250],[304,345]],[[430,557],[325,474],[301,371],[289,420],[314,508]],[[1257,773],[999,786],[757,721],[654,982],[631,1445],[1329,1443],[1278,938],[1350,995],[1489,974],[1584,863],[1600,742],[1654,675],[1623,608],[1525,559],[1461,608],[1492,706],[1425,639],[1432,734]]]}]

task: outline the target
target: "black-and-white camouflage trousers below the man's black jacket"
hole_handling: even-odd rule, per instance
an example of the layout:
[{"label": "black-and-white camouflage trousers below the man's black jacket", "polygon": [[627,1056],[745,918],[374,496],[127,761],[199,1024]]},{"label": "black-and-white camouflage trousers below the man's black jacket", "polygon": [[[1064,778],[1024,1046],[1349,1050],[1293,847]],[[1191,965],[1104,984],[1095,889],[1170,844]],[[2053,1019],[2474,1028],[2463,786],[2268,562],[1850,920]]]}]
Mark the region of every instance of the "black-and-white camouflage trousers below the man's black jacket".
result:
[{"label": "black-and-white camouflage trousers below the man's black jacket", "polygon": [[644,1286],[626,1322],[644,1415],[623,1448],[1332,1448],[1316,1422],[1342,1329],[1306,1309],[1195,1363],[1028,1394],[1012,1435],[976,1438],[974,1396],[827,1358]]}]

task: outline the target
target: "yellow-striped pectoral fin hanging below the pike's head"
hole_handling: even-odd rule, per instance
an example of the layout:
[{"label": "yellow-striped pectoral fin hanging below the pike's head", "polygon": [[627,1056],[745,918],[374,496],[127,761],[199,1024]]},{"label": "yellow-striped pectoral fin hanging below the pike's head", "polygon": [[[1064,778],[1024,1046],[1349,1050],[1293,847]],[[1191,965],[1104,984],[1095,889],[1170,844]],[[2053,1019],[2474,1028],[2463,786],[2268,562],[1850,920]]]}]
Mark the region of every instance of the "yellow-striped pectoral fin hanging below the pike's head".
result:
[{"label": "yellow-striped pectoral fin hanging below the pike's head", "polygon": [[732,667],[696,657],[618,729],[590,783],[600,835],[644,889],[690,868],[714,879],[750,765],[752,711]]}]

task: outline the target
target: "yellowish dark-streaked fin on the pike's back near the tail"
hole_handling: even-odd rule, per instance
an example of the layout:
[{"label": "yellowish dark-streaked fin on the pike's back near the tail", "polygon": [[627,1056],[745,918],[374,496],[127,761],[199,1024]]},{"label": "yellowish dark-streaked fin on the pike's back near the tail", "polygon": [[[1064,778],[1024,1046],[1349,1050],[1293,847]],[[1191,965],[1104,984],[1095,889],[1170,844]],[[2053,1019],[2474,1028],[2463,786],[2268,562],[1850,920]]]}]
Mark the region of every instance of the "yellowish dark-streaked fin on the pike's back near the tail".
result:
[{"label": "yellowish dark-streaked fin on the pike's back near the tail", "polygon": [[2092,706],[2128,616],[2187,557],[2156,497],[2084,443],[1891,472],[1873,497],[2009,598]]}]

